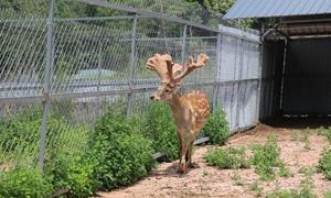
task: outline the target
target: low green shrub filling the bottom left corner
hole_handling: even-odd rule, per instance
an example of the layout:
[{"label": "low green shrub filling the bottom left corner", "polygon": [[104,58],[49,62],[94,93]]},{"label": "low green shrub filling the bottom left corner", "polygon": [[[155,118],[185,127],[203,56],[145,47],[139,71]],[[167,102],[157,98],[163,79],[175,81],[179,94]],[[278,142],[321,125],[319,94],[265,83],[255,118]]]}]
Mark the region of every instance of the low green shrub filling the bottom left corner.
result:
[{"label": "low green shrub filling the bottom left corner", "polygon": [[0,173],[0,197],[46,197],[52,185],[36,168],[19,167]]}]

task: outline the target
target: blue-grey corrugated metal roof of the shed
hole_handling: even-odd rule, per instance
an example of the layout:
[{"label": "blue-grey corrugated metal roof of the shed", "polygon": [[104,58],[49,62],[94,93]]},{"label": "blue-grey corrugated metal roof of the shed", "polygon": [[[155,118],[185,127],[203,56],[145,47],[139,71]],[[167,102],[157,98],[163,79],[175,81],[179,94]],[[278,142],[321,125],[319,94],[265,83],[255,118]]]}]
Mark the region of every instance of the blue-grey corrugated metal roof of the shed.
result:
[{"label": "blue-grey corrugated metal roof of the shed", "polygon": [[237,0],[223,19],[331,13],[331,0]]}]

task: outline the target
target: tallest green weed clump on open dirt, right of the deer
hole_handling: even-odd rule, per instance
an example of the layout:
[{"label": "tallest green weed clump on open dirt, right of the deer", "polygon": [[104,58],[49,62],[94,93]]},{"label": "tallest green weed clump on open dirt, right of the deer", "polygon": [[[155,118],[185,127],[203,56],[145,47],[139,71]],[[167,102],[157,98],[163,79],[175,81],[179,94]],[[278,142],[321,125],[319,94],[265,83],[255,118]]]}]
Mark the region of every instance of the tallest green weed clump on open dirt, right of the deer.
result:
[{"label": "tallest green weed clump on open dirt, right of the deer", "polygon": [[276,176],[275,167],[285,168],[280,160],[277,138],[271,135],[268,136],[268,141],[264,145],[254,145],[250,161],[255,165],[255,172],[263,180],[274,179]]}]

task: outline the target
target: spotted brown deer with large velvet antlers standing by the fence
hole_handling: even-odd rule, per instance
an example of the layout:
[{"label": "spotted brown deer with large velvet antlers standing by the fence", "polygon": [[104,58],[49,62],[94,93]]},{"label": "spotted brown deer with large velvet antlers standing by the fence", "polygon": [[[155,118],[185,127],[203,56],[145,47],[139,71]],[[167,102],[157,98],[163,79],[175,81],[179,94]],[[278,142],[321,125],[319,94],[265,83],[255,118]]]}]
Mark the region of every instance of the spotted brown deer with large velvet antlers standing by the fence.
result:
[{"label": "spotted brown deer with large velvet antlers standing by the fence", "polygon": [[203,67],[207,61],[209,56],[205,54],[200,54],[196,62],[191,56],[183,67],[174,64],[169,54],[154,54],[146,63],[148,69],[158,74],[161,82],[150,99],[169,105],[177,125],[180,151],[179,174],[184,174],[188,167],[194,167],[192,163],[194,140],[206,123],[211,110],[206,94],[193,90],[182,95],[177,88],[185,76]]}]

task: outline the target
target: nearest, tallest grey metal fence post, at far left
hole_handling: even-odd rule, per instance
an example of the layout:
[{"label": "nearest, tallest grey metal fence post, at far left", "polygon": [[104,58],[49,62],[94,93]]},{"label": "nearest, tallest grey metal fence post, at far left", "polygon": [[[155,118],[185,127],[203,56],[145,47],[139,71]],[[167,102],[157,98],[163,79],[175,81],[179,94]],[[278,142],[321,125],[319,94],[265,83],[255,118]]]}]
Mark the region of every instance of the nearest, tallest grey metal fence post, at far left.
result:
[{"label": "nearest, tallest grey metal fence post, at far left", "polygon": [[45,150],[46,150],[46,133],[47,133],[47,112],[50,108],[50,89],[51,89],[51,76],[53,69],[53,21],[54,21],[54,0],[50,0],[50,13],[47,20],[47,44],[46,44],[46,65],[44,70],[44,87],[43,87],[43,114],[41,125],[41,140],[39,150],[39,168],[43,173]]}]

